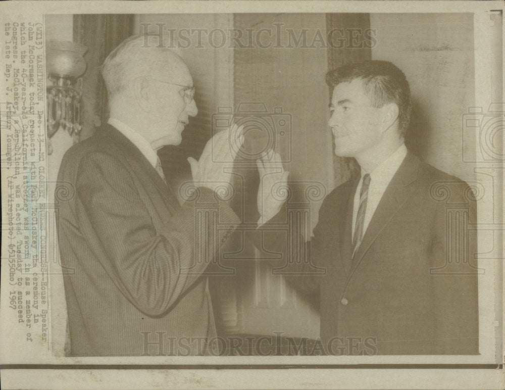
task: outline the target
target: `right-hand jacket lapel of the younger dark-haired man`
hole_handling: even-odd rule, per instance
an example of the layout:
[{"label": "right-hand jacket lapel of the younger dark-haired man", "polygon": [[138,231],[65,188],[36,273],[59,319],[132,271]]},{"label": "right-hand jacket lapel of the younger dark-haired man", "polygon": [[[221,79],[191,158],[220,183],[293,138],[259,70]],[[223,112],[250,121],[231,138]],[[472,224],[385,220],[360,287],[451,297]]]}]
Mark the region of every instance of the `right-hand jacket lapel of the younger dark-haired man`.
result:
[{"label": "right-hand jacket lapel of the younger dark-haired man", "polygon": [[360,265],[363,257],[370,249],[379,233],[391,221],[400,207],[409,199],[413,186],[409,186],[417,178],[419,159],[408,152],[398,171],[391,179],[375,210],[368,228],[361,241],[360,248],[353,262],[352,272]]}]

